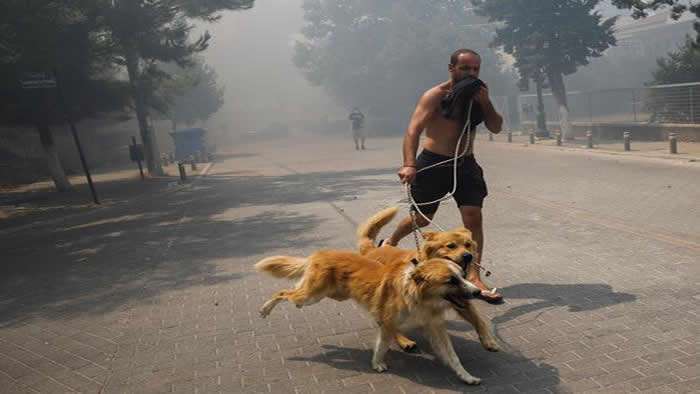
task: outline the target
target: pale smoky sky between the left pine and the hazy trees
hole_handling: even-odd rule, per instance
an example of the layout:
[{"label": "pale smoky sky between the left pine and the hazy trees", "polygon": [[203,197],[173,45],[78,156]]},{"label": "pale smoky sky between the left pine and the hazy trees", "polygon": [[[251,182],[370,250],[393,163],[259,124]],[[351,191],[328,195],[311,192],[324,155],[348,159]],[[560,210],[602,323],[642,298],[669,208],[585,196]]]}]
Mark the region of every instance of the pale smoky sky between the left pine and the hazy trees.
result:
[{"label": "pale smoky sky between the left pine and the hazy trees", "polygon": [[230,130],[262,129],[272,121],[342,116],[322,89],[311,87],[292,62],[303,24],[302,0],[257,0],[252,10],[228,12],[214,25],[204,53],[226,86],[226,103],[212,122]]}]

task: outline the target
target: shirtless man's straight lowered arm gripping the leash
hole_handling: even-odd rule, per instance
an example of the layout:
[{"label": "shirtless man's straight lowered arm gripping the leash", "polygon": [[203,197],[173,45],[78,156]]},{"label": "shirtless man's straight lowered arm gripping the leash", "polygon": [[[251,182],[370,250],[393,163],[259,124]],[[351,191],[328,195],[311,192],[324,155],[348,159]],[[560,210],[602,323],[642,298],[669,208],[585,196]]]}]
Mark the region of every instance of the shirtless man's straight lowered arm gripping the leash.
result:
[{"label": "shirtless man's straight lowered arm gripping the leash", "polygon": [[437,108],[436,97],[437,95],[432,91],[423,94],[418,100],[416,109],[411,116],[411,122],[406,129],[403,138],[403,167],[399,170],[399,178],[403,183],[413,182],[416,176],[416,153],[418,152],[420,135]]}]

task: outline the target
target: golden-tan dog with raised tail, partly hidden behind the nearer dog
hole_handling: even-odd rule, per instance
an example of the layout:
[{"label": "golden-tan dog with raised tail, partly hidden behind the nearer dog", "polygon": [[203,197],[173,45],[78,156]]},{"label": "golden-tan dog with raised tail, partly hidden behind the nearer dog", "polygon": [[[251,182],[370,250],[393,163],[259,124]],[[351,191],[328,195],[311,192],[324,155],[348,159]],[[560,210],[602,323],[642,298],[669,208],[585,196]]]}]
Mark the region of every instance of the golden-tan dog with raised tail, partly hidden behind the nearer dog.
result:
[{"label": "golden-tan dog with raised tail, partly hidden behind the nearer dog", "polygon": [[[471,232],[464,227],[446,232],[424,232],[425,242],[420,250],[406,250],[395,246],[384,245],[380,248],[374,246],[374,240],[379,231],[394,218],[398,208],[387,208],[372,216],[357,230],[358,248],[360,254],[383,264],[395,264],[396,262],[409,262],[417,259],[419,262],[433,258],[448,259],[458,264],[464,272],[467,272],[468,264],[476,259],[477,245],[471,238]],[[500,350],[498,342],[491,330],[491,325],[483,319],[475,305],[464,300],[453,303],[453,309],[464,320],[474,326],[479,340],[486,350],[496,352]],[[396,341],[405,351],[411,351],[416,343],[397,334]]]}]

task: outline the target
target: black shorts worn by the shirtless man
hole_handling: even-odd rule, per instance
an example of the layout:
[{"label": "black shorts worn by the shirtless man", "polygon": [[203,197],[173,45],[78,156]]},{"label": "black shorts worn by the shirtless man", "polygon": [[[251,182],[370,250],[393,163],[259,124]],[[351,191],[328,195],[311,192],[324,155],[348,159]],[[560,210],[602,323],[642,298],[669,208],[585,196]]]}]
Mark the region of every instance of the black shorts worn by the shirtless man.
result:
[{"label": "black shorts worn by the shirtless man", "polygon": [[[450,161],[416,174],[416,179],[411,185],[411,194],[416,202],[434,201],[452,191],[454,175],[451,159],[451,157],[425,149],[418,155],[416,159],[418,171],[444,160]],[[457,202],[457,206],[482,207],[487,195],[484,171],[477,164],[474,155],[459,159],[457,162],[457,190],[452,196]],[[420,209],[425,214],[431,214],[437,210],[439,205],[440,203],[421,205]]]}]

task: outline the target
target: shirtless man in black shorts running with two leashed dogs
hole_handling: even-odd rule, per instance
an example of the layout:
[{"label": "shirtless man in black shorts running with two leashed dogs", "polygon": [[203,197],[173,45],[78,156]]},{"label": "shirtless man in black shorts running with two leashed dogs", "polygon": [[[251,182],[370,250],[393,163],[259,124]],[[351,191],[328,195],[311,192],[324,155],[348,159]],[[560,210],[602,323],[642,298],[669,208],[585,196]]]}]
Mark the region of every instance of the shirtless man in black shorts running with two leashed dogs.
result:
[{"label": "shirtless man in black shorts running with two leashed dogs", "polygon": [[[450,79],[432,87],[418,101],[411,122],[406,130],[403,142],[403,166],[398,172],[402,183],[411,184],[411,193],[416,202],[434,201],[443,197],[452,190],[453,168],[451,164],[434,167],[416,174],[418,170],[431,164],[451,159],[454,157],[457,140],[462,132],[462,125],[450,119],[446,119],[440,112],[440,101],[452,89],[452,87],[464,77],[478,78],[481,68],[481,57],[470,49],[459,49],[451,58],[448,70]],[[482,87],[474,98],[483,113],[486,128],[492,133],[499,133],[503,126],[503,118],[496,112],[489,99],[489,92]],[[416,158],[419,137],[425,130],[423,151]],[[476,124],[471,125],[473,141]],[[467,141],[463,141],[466,146]],[[461,150],[460,150],[461,151]],[[481,262],[481,252],[484,246],[483,225],[481,208],[488,194],[483,171],[477,164],[472,152],[460,159],[457,174],[457,190],[454,199],[462,215],[464,227],[472,232],[474,240],[478,243],[478,255],[476,263]],[[421,205],[421,211],[431,220],[437,212],[439,203]],[[426,226],[428,221],[421,215],[416,215],[416,224]],[[413,223],[410,217],[401,221],[396,231],[386,243],[396,245],[413,231]],[[503,296],[486,287],[481,280],[479,269],[471,264],[468,280],[482,289],[482,299],[490,303],[500,303]]]}]

